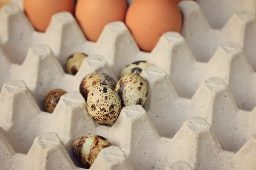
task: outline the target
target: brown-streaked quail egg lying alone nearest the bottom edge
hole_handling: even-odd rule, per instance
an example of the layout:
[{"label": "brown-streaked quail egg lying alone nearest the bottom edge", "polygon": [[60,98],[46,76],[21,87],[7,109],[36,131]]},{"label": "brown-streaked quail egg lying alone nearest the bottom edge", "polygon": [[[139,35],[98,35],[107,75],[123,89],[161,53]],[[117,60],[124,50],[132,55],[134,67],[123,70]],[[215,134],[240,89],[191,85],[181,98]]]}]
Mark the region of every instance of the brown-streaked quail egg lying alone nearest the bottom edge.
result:
[{"label": "brown-streaked quail egg lying alone nearest the bottom edge", "polygon": [[82,136],[73,143],[73,151],[76,156],[88,167],[92,166],[99,152],[111,146],[111,142],[99,135]]}]

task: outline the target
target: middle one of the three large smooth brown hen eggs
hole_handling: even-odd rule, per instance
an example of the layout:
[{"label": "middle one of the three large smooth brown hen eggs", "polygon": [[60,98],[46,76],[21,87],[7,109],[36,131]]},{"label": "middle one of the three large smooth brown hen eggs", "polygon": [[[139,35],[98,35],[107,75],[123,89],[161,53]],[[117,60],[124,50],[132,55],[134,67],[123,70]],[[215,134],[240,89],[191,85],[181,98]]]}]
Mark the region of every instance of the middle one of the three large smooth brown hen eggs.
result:
[{"label": "middle one of the three large smooth brown hen eggs", "polygon": [[87,40],[97,41],[106,24],[125,21],[126,0],[79,0],[76,19]]}]

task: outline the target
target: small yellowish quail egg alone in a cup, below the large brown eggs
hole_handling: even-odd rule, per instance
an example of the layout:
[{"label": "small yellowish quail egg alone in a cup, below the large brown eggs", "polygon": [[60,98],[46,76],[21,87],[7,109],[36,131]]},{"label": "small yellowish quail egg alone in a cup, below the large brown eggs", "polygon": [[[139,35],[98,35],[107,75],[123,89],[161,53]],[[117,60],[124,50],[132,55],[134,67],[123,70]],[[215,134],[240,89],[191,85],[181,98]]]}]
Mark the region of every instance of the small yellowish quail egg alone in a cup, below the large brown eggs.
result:
[{"label": "small yellowish quail egg alone in a cup, below the large brown eggs", "polygon": [[83,60],[87,57],[84,53],[74,53],[67,58],[66,70],[68,74],[76,75]]}]

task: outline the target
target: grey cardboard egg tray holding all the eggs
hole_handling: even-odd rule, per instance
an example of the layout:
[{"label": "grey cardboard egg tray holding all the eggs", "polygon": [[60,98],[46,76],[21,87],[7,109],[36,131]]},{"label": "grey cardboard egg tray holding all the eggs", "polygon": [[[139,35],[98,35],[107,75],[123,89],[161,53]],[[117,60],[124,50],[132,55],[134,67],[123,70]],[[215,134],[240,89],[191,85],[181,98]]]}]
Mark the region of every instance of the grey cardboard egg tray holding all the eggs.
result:
[{"label": "grey cardboard egg tray holding all the eggs", "polygon": [[[204,6],[179,6],[184,38],[165,33],[151,53],[139,50],[122,22],[89,42],[67,12],[38,33],[16,4],[1,8],[0,169],[79,170],[72,143],[97,134],[114,146],[92,170],[255,170],[255,16],[238,11],[215,30]],[[76,76],[65,74],[67,57],[78,51],[90,57]],[[81,79],[99,71],[118,80],[125,65],[142,59],[154,63],[142,73],[145,105],[123,108],[112,126],[94,122],[78,92]],[[41,110],[52,88],[69,93],[50,114]]]}]

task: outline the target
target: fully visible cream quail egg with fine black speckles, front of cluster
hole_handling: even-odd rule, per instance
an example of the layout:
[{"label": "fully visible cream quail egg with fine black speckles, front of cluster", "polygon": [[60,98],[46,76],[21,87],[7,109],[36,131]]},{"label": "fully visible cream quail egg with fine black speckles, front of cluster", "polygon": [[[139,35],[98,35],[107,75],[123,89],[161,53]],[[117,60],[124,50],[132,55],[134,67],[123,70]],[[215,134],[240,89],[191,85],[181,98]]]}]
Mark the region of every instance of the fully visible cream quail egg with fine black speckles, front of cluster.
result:
[{"label": "fully visible cream quail egg with fine black speckles, front of cluster", "polygon": [[96,122],[109,124],[119,116],[121,100],[110,85],[96,84],[88,94],[87,110]]}]

